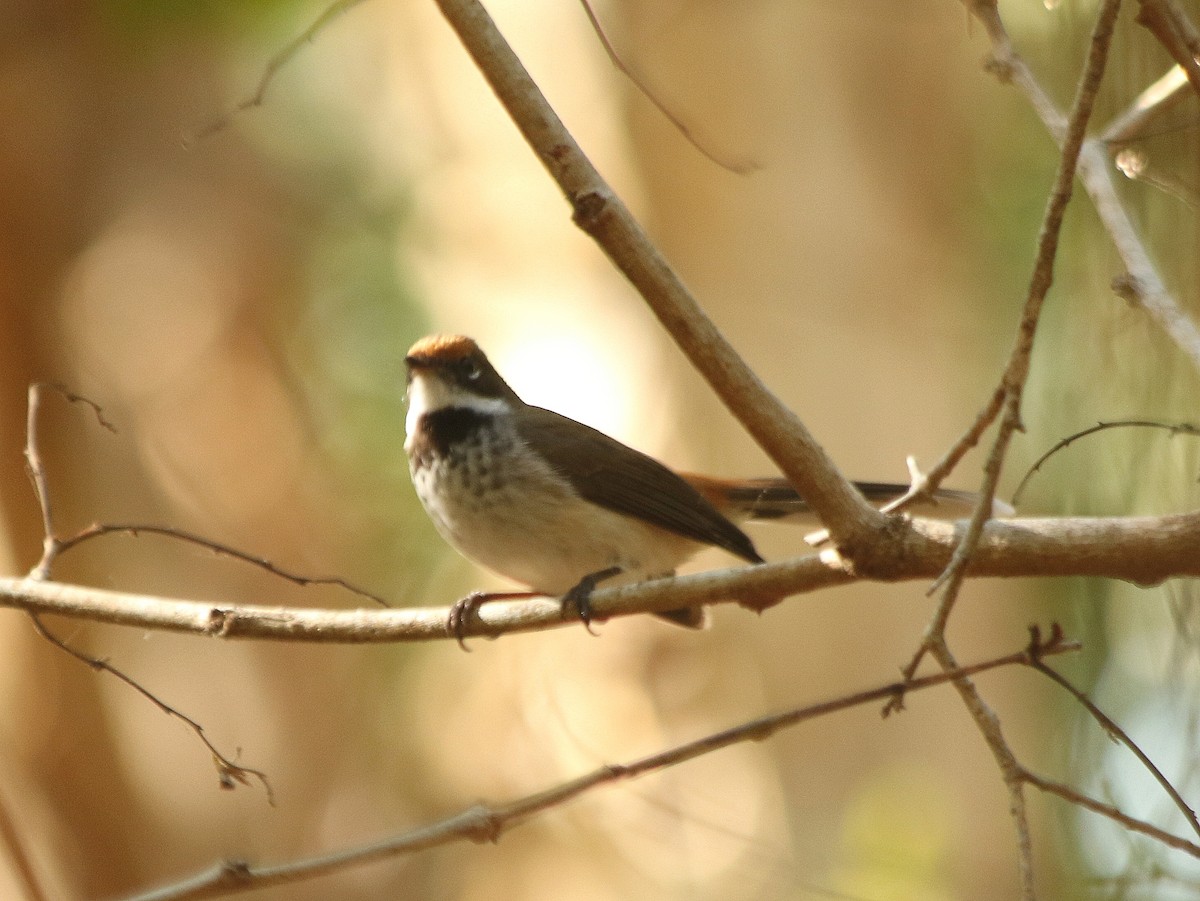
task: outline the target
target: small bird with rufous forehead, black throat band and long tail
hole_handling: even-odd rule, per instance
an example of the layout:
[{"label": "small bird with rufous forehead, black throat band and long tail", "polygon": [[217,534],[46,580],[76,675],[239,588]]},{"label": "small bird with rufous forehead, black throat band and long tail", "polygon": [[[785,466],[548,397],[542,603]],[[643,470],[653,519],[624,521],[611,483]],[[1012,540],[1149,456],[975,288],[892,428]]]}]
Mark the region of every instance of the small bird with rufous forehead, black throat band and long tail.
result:
[{"label": "small bird with rufous forehead, black throat band and long tail", "polygon": [[[562,599],[589,625],[601,583],[674,575],[706,546],[748,564],[764,563],[737,522],[811,511],[782,477],[722,479],[674,471],[607,434],[528,404],[474,340],[430,335],[404,355],[408,412],[404,450],[416,495],[460,553],[527,591],[473,593],[451,607],[448,632],[502,597]],[[856,482],[869,500],[907,486]],[[970,503],[968,492],[937,499]],[[700,627],[702,607],[660,612]]]}]

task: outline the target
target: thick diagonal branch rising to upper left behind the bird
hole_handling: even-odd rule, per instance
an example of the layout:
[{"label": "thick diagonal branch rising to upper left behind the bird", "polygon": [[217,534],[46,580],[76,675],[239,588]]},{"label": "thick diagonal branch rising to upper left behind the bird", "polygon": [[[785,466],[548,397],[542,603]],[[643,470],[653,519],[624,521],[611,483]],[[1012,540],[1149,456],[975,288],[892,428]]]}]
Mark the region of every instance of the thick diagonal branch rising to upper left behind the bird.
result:
[{"label": "thick diagonal branch rising to upper left behind the bird", "polygon": [[632,282],[692,366],[796,486],[851,557],[884,518],[738,356],[587,158],[478,0],[438,0],[446,20],[587,232]]}]

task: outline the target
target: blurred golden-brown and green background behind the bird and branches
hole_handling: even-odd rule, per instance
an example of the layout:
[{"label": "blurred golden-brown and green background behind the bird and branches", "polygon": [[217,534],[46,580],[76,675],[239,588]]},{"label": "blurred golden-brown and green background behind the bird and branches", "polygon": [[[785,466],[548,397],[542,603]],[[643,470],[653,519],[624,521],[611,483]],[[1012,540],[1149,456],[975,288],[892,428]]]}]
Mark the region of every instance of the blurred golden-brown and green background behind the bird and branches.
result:
[{"label": "blurred golden-brown and green background behind the bird and branches", "polygon": [[[1129,4],[1127,7],[1133,7]],[[59,528],[168,524],[395,605],[498,588],[445,547],[408,482],[404,349],[474,336],[526,400],[665,461],[770,465],[570,223],[433,4],[370,0],[251,95],[324,8],[307,0],[10,0],[0,13],[0,561],[41,548],[23,471],[25,394]],[[1056,162],[1015,90],[982,70],[952,0],[606,0],[623,78],[581,6],[488,4],[584,150],[767,383],[844,470],[902,481],[931,463],[1012,346]],[[1194,17],[1196,5],[1184,4]],[[1066,107],[1094,4],[1010,0],[1022,53]],[[1168,67],[1122,18],[1104,122]],[[1196,312],[1195,98],[1142,136],[1153,178],[1122,197]],[[707,156],[706,156],[707,154]],[[716,157],[738,174],[713,162]],[[1097,420],[1195,416],[1196,373],[1109,288],[1121,272],[1081,193],[1068,215],[1004,486]],[[1109,432],[1055,458],[1031,512],[1196,504],[1196,446]],[[968,458],[958,487],[974,487]],[[800,533],[762,529],[768,558]],[[728,563],[718,553],[696,566]],[[193,547],[108,537],[61,581],[167,596],[348,607]],[[0,618],[0,894],[112,897],[221,858],[277,863],[374,840],[476,800],[539,791],[770,710],[896,677],[924,584],[858,585],[703,633],[652,618],[428,647],[222,643],[47,620],[270,776],[220,791],[202,745],[112,678]],[[971,583],[964,661],[1061,621],[1062,667],[1196,798],[1190,585]],[[979,679],[1022,762],[1165,828],[1178,816],[1128,755],[1033,674]],[[1046,897],[1194,897],[1180,855],[1031,794]],[[16,848],[19,848],[17,851]],[[950,691],[827,717],[592,794],[508,834],[256,897],[1010,899],[1016,863],[995,764]]]}]

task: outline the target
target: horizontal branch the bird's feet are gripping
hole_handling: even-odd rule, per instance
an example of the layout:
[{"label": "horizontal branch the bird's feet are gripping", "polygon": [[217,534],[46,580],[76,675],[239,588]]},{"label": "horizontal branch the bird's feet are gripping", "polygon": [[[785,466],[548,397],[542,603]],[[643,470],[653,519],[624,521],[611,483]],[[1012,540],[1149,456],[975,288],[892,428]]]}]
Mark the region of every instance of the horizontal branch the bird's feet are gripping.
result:
[{"label": "horizontal branch the bird's feet are gripping", "polygon": [[[888,545],[888,582],[930,579],[941,572],[961,539],[964,524],[913,519]],[[971,577],[1093,576],[1136,584],[1200,576],[1200,515],[1120,518],[1058,517],[994,519],[984,528],[967,567]],[[595,620],[677,609],[698,603],[742,603],[766,609],[782,599],[863,581],[836,552],[778,563],[698,572],[592,596]],[[138,629],[161,629],[215,638],[324,643],[446,641],[449,607],[318,609],[274,605],[175,600],[32,578],[0,578],[0,607],[55,613]],[[563,620],[557,600],[485,605],[466,623],[467,636],[498,636],[576,625]]]}]

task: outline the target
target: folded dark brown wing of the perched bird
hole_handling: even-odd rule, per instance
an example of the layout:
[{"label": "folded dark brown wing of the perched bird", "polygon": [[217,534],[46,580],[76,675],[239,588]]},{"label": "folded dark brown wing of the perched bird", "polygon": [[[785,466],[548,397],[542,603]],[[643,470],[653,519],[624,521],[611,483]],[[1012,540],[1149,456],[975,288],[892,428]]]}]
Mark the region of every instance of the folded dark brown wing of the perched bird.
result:
[{"label": "folded dark brown wing of the perched bird", "polygon": [[593,504],[762,561],[745,533],[656,459],[540,407],[524,409],[517,431]]}]

